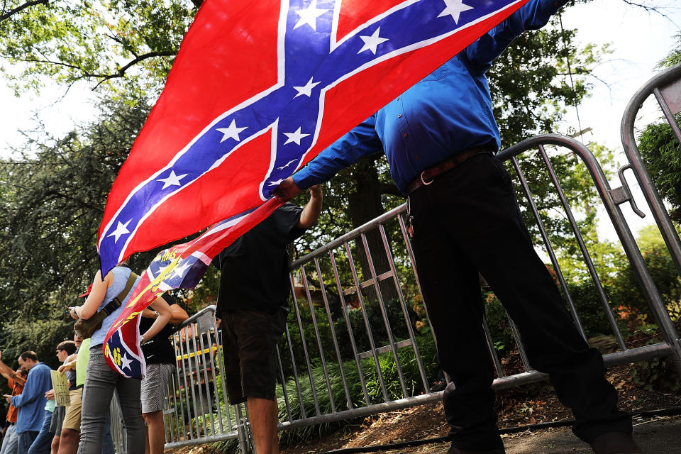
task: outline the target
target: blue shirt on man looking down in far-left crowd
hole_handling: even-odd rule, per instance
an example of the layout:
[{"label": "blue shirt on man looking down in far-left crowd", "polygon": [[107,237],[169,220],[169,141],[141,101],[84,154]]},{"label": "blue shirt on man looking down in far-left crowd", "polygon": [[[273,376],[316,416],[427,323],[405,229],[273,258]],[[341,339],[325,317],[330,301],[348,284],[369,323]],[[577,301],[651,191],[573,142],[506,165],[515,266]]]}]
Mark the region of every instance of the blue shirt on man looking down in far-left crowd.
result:
[{"label": "blue shirt on man looking down in far-left crowd", "polygon": [[26,384],[18,396],[12,397],[12,405],[18,409],[16,433],[39,432],[45,417],[45,393],[52,389],[50,367],[43,362],[31,367]]}]

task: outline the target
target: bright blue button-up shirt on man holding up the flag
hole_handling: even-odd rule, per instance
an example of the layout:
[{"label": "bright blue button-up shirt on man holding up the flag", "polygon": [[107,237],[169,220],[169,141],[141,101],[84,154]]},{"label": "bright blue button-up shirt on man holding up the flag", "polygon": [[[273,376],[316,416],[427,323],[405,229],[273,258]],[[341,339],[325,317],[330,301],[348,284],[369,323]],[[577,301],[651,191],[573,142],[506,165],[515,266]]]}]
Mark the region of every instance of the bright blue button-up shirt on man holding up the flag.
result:
[{"label": "bright blue button-up shirt on man holding up the flag", "polygon": [[544,26],[567,0],[530,0],[475,43],[343,135],[293,176],[305,189],[362,156],[383,151],[400,191],[419,173],[470,148],[498,150],[485,73],[526,30]]}]

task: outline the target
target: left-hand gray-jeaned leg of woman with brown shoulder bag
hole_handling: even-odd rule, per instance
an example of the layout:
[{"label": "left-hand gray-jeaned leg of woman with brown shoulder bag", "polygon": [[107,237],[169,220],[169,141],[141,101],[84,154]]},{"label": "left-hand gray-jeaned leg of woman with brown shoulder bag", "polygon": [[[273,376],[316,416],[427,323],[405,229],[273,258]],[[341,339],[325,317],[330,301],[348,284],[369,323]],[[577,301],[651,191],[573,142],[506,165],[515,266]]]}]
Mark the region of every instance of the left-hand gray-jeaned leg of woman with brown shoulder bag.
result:
[{"label": "left-hand gray-jeaned leg of woman with brown shoulder bag", "polygon": [[119,380],[104,360],[101,348],[92,348],[85,375],[78,454],[101,454],[104,424],[109,414],[111,397]]}]

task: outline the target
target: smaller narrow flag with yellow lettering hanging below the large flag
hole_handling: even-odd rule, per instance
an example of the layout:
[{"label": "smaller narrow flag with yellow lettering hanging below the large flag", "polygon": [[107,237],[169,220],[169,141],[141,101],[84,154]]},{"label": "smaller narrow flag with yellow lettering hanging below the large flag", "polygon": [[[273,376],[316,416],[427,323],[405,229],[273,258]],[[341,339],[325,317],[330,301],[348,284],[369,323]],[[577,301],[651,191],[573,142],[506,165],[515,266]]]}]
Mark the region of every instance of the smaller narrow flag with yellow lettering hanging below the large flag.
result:
[{"label": "smaller narrow flag with yellow lettering hanging below the large flag", "polygon": [[276,199],[270,199],[253,210],[255,216],[248,216],[251,213],[248,212],[226,219],[189,243],[158,253],[140,277],[123,312],[106,333],[103,348],[109,367],[125,377],[142,378],[146,363],[139,345],[138,314],[167,290],[196,287],[211,260],[232,242],[233,236],[242,235],[278,206]]}]

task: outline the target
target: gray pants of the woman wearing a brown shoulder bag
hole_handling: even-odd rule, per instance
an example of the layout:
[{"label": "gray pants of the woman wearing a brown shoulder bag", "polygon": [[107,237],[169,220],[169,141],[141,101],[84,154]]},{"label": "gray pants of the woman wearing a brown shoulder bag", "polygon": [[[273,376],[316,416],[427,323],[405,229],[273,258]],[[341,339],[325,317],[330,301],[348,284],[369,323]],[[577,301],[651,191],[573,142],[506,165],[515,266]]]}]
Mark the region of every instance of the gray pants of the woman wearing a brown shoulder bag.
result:
[{"label": "gray pants of the woman wearing a brown shoulder bag", "polygon": [[104,360],[104,354],[101,353],[101,345],[96,345],[90,349],[85,374],[78,454],[101,454],[104,424],[106,416],[109,415],[114,390],[118,391],[118,402],[121,404],[128,454],[144,453],[140,380],[124,378],[111,370]]}]

